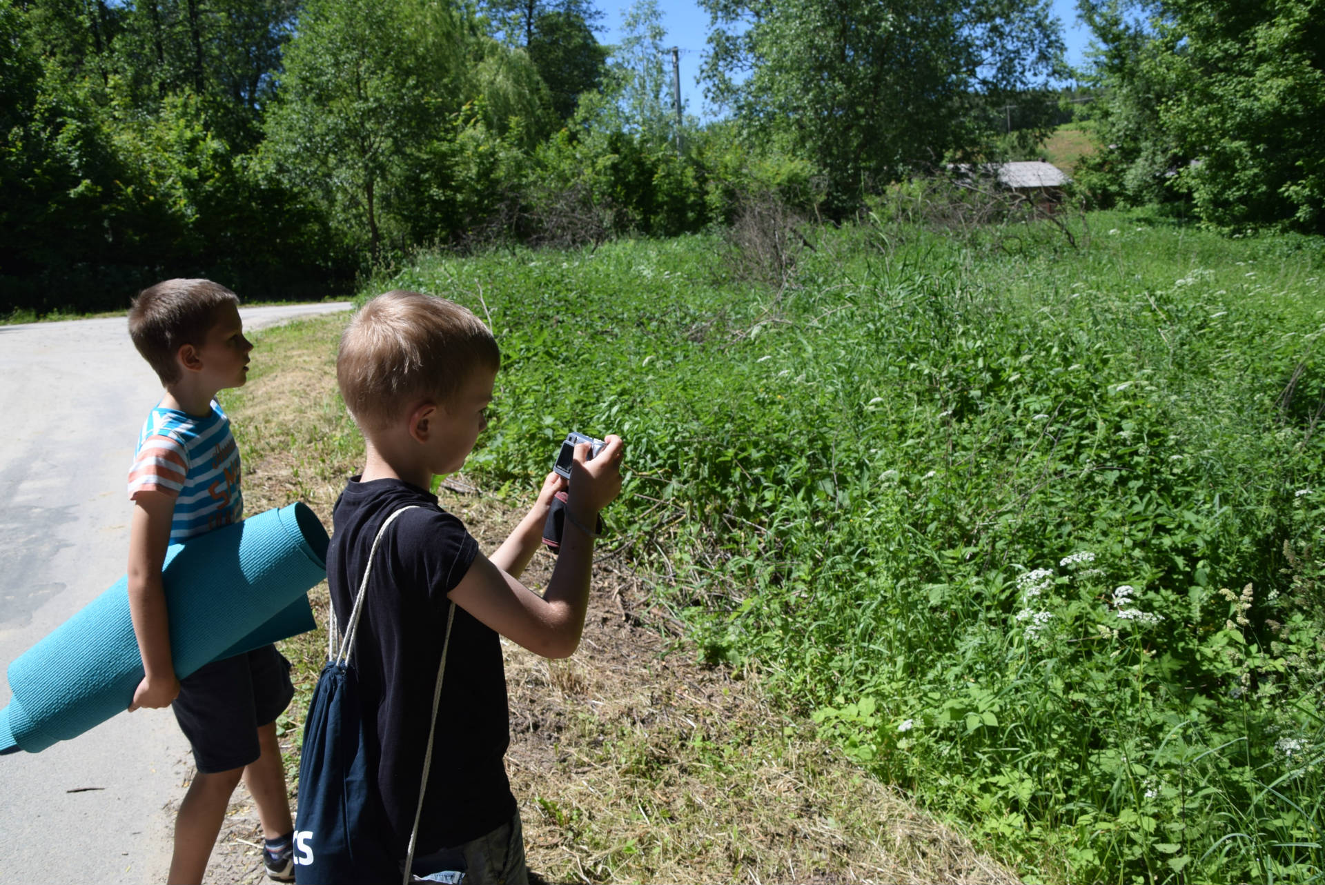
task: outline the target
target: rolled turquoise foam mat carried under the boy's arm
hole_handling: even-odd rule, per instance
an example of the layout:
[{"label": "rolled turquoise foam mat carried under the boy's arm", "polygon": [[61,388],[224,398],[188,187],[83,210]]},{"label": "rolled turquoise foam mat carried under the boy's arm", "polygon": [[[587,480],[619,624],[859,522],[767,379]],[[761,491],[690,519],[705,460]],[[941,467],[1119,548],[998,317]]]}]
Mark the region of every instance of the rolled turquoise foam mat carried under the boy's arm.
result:
[{"label": "rolled turquoise foam mat carried under the boy's arm", "polygon": [[[171,545],[162,568],[175,673],[313,629],[307,591],[326,578],[327,533],[303,503]],[[37,753],[129,709],[143,660],[129,582],[9,664],[0,754]]]}]

